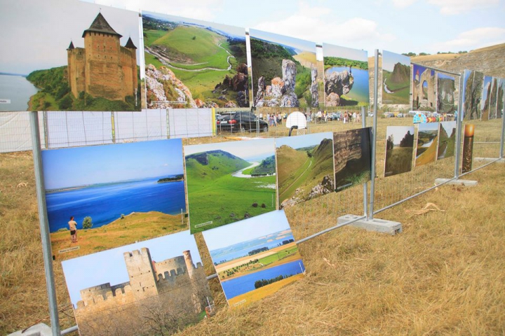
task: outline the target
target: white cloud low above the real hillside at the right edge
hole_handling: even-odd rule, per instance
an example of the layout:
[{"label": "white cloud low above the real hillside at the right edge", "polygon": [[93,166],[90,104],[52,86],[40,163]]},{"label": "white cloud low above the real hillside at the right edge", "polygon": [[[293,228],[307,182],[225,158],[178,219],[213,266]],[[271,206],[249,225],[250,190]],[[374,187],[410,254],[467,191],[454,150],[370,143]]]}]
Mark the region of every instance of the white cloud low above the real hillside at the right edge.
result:
[{"label": "white cloud low above the real hillside at the right edge", "polygon": [[456,38],[431,45],[434,51],[459,51],[483,48],[505,42],[505,29],[499,27],[482,27],[464,31]]}]

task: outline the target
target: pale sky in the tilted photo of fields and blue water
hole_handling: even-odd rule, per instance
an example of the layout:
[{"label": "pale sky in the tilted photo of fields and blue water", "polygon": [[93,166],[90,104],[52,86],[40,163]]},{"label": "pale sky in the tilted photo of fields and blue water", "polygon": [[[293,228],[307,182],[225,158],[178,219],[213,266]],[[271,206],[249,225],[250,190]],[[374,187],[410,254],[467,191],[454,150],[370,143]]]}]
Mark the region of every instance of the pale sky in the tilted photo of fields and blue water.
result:
[{"label": "pale sky in the tilted photo of fields and blue water", "polygon": [[272,233],[291,230],[284,210],[271,211],[240,222],[224,225],[202,232],[209,251],[271,235]]}]

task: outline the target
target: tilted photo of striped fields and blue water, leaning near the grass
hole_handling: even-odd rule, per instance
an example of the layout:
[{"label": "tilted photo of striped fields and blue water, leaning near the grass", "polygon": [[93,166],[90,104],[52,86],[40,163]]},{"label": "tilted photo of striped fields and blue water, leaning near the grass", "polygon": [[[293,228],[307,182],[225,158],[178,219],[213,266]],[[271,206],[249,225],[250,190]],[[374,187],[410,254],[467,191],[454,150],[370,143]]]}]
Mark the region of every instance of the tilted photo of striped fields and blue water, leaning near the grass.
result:
[{"label": "tilted photo of striped fields and blue water, leaning near the grass", "polygon": [[230,307],[261,300],[305,274],[283,210],[208,230],[203,239]]}]

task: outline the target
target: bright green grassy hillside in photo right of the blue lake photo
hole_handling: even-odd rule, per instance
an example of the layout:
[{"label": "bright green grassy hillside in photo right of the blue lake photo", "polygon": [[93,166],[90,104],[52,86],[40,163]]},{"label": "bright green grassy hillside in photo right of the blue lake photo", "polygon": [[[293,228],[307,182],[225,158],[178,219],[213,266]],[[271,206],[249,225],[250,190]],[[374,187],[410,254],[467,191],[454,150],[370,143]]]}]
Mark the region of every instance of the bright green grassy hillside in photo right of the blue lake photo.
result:
[{"label": "bright green grassy hillside in photo right of the blue lake photo", "polygon": [[[224,151],[187,155],[191,233],[276,209],[275,176],[239,178],[231,174],[250,163]],[[205,225],[201,225],[205,223]]]}]

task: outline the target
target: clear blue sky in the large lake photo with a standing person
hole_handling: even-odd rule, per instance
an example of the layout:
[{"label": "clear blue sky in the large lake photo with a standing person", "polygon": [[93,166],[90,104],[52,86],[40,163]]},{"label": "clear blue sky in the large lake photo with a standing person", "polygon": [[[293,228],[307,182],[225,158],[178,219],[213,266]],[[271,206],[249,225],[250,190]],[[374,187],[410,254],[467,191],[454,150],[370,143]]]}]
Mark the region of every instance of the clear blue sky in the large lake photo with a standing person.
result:
[{"label": "clear blue sky in the large lake photo with a standing person", "polygon": [[46,189],[183,174],[180,139],[42,151]]}]

